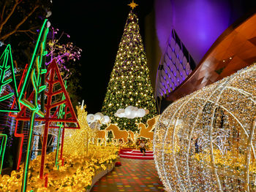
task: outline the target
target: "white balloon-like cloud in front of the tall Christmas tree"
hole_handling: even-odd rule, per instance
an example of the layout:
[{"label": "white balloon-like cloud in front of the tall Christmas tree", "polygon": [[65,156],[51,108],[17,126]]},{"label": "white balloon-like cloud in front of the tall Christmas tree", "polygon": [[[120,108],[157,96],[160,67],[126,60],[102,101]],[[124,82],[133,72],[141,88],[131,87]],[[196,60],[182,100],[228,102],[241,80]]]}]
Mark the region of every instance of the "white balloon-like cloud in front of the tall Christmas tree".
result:
[{"label": "white balloon-like cloud in front of the tall Christmas tree", "polygon": [[118,118],[143,118],[148,114],[148,110],[138,109],[138,107],[128,106],[125,109],[119,109],[116,111],[115,116]]}]

